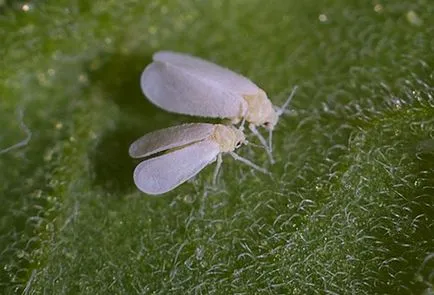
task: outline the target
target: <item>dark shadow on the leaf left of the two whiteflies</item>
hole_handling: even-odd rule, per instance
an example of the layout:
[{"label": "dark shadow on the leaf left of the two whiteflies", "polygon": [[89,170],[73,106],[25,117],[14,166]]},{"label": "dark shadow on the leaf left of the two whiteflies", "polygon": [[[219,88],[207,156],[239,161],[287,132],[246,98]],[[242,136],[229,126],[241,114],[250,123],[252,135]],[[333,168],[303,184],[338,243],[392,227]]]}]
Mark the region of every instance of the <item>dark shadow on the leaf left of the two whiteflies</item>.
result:
[{"label": "dark shadow on the leaf left of the two whiteflies", "polygon": [[88,66],[92,87],[101,89],[120,110],[90,154],[95,185],[113,194],[134,188],[135,163],[128,147],[154,129],[155,116],[162,112],[145,99],[140,89],[140,74],[150,61],[150,56],[108,54]]}]

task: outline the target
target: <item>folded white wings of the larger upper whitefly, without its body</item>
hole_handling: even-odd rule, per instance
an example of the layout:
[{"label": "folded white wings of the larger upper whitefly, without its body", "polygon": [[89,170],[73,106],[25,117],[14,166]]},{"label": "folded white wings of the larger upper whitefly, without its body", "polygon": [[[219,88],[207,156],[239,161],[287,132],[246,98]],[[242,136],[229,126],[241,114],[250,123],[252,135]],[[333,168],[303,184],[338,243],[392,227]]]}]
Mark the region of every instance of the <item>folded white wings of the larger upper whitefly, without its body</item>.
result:
[{"label": "folded white wings of the larger upper whitefly, without its body", "polygon": [[188,55],[160,52],[154,59],[142,74],[142,90],[170,112],[236,118],[247,108],[243,95],[259,91],[250,80]]}]

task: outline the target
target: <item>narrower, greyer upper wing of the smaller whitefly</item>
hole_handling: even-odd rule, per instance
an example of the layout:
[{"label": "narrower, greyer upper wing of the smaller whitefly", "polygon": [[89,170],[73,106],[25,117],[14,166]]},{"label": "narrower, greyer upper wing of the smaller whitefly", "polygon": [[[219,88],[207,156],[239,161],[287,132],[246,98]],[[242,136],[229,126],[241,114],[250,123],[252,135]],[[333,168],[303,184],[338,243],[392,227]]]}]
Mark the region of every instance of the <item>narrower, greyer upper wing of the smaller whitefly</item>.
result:
[{"label": "narrower, greyer upper wing of the smaller whitefly", "polygon": [[208,138],[215,125],[192,123],[157,130],[140,137],[130,145],[132,158],[143,158],[168,149],[182,147]]}]

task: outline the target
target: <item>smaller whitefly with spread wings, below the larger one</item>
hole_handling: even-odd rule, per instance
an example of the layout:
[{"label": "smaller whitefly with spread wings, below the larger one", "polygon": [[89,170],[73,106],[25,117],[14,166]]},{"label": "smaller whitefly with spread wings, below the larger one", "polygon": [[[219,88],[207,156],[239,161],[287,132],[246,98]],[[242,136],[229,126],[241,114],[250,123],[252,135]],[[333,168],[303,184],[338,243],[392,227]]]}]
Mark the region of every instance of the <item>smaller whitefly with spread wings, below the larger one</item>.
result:
[{"label": "smaller whitefly with spread wings, below the larger one", "polygon": [[129,149],[132,158],[145,159],[134,170],[134,183],[144,193],[158,195],[181,185],[217,159],[214,183],[222,164],[222,153],[269,174],[234,150],[246,143],[242,131],[221,124],[194,123],[145,134]]}]

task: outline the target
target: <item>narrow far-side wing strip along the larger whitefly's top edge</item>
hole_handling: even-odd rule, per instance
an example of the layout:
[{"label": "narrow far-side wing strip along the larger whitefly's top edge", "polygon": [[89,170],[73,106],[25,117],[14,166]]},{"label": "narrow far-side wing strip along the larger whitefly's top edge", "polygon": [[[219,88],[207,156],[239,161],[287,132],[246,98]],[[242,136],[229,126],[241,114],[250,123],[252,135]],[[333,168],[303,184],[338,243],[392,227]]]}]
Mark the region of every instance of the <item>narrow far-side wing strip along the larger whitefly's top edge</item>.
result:
[{"label": "narrow far-side wing strip along the larger whitefly's top edge", "polygon": [[258,93],[258,86],[246,77],[189,54],[159,51],[153,55],[153,59],[154,61],[175,66],[206,83],[218,85],[220,88],[241,95],[255,95]]}]

